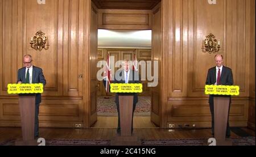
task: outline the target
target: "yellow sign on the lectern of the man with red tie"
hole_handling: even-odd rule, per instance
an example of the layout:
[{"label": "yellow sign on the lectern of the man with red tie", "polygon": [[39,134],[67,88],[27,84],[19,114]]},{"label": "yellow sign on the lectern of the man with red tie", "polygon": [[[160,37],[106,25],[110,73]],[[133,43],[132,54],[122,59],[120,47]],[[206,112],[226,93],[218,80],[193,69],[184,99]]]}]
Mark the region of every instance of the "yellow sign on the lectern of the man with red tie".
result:
[{"label": "yellow sign on the lectern of the man with red tie", "polygon": [[239,95],[239,86],[205,85],[205,94],[210,95]]}]

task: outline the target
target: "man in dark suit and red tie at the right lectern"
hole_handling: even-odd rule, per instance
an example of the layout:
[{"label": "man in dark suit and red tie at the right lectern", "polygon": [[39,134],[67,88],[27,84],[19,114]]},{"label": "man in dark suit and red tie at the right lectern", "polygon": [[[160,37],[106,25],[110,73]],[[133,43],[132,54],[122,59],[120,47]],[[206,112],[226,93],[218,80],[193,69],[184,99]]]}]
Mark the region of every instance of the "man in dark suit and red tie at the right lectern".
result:
[{"label": "man in dark suit and red tie at the right lectern", "polygon": [[[233,85],[233,74],[229,67],[223,66],[223,56],[216,54],[214,57],[216,66],[210,68],[207,74],[207,80],[205,84],[217,84],[217,85]],[[214,96],[230,97],[226,95],[209,95],[210,113],[212,114],[212,134],[214,135]],[[229,101],[230,109],[231,97]],[[229,116],[229,113],[228,113]],[[230,137],[229,118],[226,128],[226,137]]]}]

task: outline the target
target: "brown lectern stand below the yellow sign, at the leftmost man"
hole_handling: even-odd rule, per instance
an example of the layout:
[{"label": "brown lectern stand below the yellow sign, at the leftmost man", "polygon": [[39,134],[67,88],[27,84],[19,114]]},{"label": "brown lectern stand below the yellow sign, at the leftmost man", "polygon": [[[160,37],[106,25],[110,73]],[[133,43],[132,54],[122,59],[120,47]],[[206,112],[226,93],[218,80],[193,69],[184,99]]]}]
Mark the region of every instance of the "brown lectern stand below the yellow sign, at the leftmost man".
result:
[{"label": "brown lectern stand below the yellow sign, at the leftmost man", "polygon": [[22,124],[22,141],[16,141],[17,146],[38,145],[34,139],[35,129],[35,94],[19,94],[19,111]]}]

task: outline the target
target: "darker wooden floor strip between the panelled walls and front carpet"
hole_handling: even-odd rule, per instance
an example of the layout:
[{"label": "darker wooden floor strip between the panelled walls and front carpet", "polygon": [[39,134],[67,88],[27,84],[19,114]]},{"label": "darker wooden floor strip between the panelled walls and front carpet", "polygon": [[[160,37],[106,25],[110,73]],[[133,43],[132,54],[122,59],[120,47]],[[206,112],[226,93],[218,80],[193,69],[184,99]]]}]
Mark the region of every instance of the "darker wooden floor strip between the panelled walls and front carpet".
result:
[{"label": "darker wooden floor strip between the panelled walls and front carpet", "polygon": [[[255,131],[242,128],[251,136]],[[40,128],[40,137],[45,139],[112,139],[117,135],[116,129],[58,129]],[[212,137],[210,129],[134,129],[134,135],[141,139],[172,139],[172,138],[209,138]],[[231,132],[231,137],[240,137]],[[22,138],[21,128],[0,128],[0,141]]]}]

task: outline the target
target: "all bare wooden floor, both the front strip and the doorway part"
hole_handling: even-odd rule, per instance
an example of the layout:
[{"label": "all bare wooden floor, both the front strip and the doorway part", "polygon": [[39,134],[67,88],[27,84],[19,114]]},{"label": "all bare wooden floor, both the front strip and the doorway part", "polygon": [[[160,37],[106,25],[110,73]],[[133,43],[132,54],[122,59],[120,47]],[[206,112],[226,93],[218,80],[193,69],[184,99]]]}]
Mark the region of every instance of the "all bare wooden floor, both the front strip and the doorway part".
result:
[{"label": "all bare wooden floor, both the front strip and the doorway part", "polygon": [[[112,139],[117,135],[117,117],[98,116],[96,124],[90,129],[40,128],[40,137],[45,139]],[[234,129],[233,129],[234,130]],[[245,133],[255,136],[255,131],[241,128]],[[235,131],[237,132],[237,131]],[[209,138],[211,129],[160,129],[150,121],[150,116],[134,117],[133,134],[141,139]],[[231,137],[240,137],[231,131]],[[0,141],[22,138],[21,128],[0,128]]]}]

